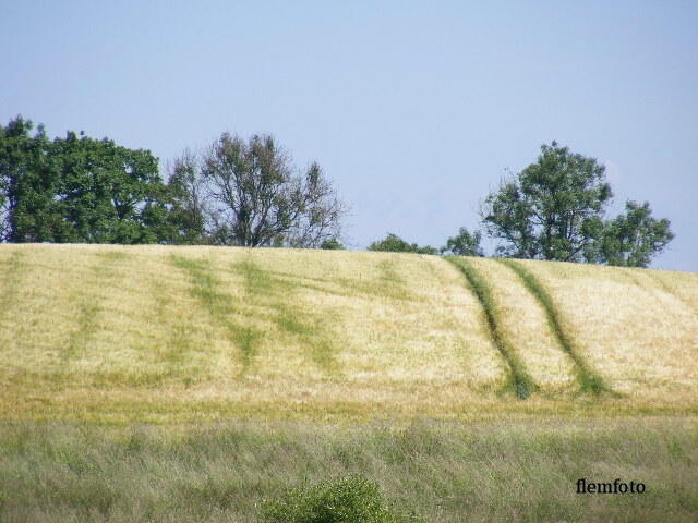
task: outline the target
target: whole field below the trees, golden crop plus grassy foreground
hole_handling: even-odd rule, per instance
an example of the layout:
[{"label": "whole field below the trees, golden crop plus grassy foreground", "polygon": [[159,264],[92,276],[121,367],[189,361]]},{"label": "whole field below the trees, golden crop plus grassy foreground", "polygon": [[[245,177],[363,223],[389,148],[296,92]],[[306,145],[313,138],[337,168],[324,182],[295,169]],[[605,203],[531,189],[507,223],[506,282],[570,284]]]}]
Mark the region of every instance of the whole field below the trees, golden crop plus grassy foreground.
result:
[{"label": "whole field below the trees, golden crop plus grassy foreground", "polygon": [[0,358],[0,521],[252,522],[349,473],[425,521],[698,514],[695,273],[1,245]]}]

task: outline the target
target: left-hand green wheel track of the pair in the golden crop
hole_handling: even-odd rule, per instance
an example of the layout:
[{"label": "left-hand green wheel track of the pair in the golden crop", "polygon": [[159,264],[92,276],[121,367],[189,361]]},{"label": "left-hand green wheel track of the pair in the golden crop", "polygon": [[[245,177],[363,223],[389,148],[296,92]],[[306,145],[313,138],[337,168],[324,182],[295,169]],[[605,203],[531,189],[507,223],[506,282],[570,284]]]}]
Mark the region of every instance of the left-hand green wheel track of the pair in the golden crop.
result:
[{"label": "left-hand green wheel track of the pair in the golden crop", "polygon": [[507,340],[502,328],[500,312],[492,299],[490,285],[482,275],[462,257],[447,256],[446,259],[453,264],[466,278],[470,290],[478,299],[484,314],[485,324],[490,332],[490,338],[494,346],[500,351],[509,369],[508,386],[514,389],[514,393],[519,400],[525,400],[539,389],[530,374],[526,369],[524,362],[517,354],[512,343]]}]

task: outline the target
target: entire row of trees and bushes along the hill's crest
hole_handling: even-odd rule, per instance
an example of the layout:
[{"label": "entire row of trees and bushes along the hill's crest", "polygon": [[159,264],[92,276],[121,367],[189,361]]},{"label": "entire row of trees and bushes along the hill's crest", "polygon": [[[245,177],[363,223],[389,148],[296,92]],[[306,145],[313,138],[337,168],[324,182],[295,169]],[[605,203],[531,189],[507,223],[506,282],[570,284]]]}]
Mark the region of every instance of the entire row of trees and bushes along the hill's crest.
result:
[{"label": "entire row of trees and bushes along the hill's crest", "polygon": [[[436,248],[388,233],[370,251],[646,267],[673,239],[649,203],[606,218],[605,167],[552,142],[481,204],[481,228]],[[317,163],[293,166],[268,135],[222,133],[163,177],[145,149],[68,132],[50,139],[16,117],[0,126],[0,241],[344,248],[347,206]]]}]

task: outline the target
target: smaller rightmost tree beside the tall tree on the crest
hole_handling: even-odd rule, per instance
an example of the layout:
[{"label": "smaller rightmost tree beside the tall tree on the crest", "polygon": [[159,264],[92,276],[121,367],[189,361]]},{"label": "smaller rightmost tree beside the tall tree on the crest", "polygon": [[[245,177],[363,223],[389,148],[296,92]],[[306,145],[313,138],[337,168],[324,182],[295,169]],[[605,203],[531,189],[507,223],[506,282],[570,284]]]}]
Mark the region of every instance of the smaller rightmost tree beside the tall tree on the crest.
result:
[{"label": "smaller rightmost tree beside the tall tree on the crest", "polygon": [[671,242],[666,219],[652,218],[650,204],[626,202],[625,212],[606,222],[601,241],[599,262],[625,267],[647,267]]}]

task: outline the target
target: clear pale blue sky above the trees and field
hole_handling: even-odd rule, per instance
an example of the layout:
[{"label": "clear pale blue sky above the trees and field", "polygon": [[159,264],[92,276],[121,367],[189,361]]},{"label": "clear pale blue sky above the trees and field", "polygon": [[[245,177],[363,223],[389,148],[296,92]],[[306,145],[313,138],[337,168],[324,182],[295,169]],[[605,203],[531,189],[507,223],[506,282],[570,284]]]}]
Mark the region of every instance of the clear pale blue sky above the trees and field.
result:
[{"label": "clear pale blue sky above the trees and field", "polygon": [[[347,240],[441,246],[555,139],[698,271],[698,2],[0,0],[0,121],[149,149],[274,135],[351,208]],[[493,244],[488,244],[492,251]]]}]

